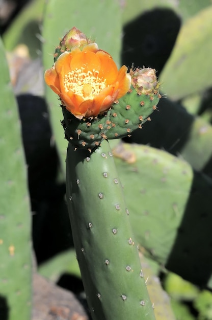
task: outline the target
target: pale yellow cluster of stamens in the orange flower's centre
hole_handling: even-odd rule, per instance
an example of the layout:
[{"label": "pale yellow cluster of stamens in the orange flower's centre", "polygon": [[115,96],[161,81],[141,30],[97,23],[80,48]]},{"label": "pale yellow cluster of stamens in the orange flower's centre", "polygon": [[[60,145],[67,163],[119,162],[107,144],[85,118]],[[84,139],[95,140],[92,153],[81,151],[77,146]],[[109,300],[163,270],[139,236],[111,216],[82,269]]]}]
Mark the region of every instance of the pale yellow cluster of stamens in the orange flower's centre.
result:
[{"label": "pale yellow cluster of stamens in the orange flower's centre", "polygon": [[65,92],[71,90],[75,95],[85,100],[94,99],[106,86],[106,79],[102,81],[96,70],[84,72],[85,68],[75,69],[65,75]]}]

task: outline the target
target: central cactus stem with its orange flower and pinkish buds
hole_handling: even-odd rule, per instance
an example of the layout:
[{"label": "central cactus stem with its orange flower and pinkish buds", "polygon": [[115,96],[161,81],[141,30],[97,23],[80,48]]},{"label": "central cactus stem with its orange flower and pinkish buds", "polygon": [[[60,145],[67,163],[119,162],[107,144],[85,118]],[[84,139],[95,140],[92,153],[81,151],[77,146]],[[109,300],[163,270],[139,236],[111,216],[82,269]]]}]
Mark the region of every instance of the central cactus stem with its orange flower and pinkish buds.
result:
[{"label": "central cactus stem with its orange flower and pinkish buds", "polygon": [[[45,81],[63,108],[62,124],[69,142],[67,202],[92,318],[154,319],[107,140],[129,134],[156,108],[160,94],[155,71],[127,73],[126,66],[118,70],[112,57],[76,28],[61,40],[54,57]],[[128,99],[122,102],[125,95]],[[127,111],[130,120],[126,122]],[[123,121],[129,131],[123,129]]]}]

